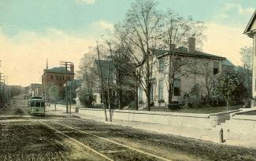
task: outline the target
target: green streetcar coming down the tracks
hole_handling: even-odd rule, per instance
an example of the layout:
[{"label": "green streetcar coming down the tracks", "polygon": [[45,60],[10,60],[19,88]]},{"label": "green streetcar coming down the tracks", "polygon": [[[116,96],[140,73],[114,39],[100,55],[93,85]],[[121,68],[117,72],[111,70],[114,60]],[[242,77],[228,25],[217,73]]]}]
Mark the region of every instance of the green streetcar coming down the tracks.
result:
[{"label": "green streetcar coming down the tracks", "polygon": [[31,115],[45,115],[45,101],[43,97],[31,97],[28,100],[28,113]]}]

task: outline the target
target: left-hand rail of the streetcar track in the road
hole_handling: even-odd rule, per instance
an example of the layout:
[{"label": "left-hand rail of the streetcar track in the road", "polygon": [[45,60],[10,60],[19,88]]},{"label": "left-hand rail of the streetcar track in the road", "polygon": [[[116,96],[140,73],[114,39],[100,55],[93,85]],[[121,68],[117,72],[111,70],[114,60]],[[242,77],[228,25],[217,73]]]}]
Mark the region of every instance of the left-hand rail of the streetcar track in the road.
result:
[{"label": "left-hand rail of the streetcar track in the road", "polygon": [[54,127],[49,126],[49,125],[46,124],[46,123],[43,123],[43,121],[40,121],[40,120],[37,120],[37,121],[38,121],[39,123],[42,123],[44,126],[49,127],[51,130],[55,130],[56,132],[58,132],[58,134],[61,134],[61,135],[65,136],[65,137],[68,137],[70,140],[76,142],[76,144],[82,145],[83,147],[85,147],[85,148],[91,150],[92,152],[95,152],[96,154],[98,154],[98,156],[101,156],[102,158],[107,159],[107,160],[109,160],[109,161],[113,161],[113,159],[109,159],[108,156],[105,156],[105,155],[102,154],[101,152],[98,152],[98,151],[96,151],[95,149],[93,149],[93,148],[91,148],[91,147],[89,147],[89,146],[87,146],[87,145],[84,145],[82,142],[77,141],[77,140],[74,139],[73,137],[69,137],[69,135],[66,135],[66,134],[62,133],[61,131],[54,129]]}]

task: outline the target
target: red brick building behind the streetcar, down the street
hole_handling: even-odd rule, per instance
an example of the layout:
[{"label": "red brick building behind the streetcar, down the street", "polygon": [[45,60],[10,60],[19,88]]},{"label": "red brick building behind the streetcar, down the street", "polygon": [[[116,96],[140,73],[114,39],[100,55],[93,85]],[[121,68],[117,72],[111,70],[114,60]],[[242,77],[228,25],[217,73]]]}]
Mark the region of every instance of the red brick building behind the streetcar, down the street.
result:
[{"label": "red brick building behind the streetcar, down the street", "polygon": [[50,86],[57,86],[58,92],[60,93],[60,96],[63,95],[64,85],[67,81],[74,80],[74,65],[70,65],[70,70],[67,71],[67,77],[65,76],[65,68],[50,68],[50,69],[44,69],[43,75],[42,75],[42,84],[43,84],[43,93],[47,99],[47,89]]}]

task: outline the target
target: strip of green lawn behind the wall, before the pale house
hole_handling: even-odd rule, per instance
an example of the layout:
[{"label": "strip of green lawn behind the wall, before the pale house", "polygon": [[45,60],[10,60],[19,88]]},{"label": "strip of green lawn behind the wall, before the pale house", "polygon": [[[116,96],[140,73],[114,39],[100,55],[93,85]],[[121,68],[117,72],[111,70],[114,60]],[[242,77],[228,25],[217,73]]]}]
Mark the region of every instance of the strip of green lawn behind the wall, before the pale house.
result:
[{"label": "strip of green lawn behind the wall, before the pale house", "polygon": [[[239,108],[243,108],[243,105],[236,105],[231,106],[228,108],[228,111],[237,110]],[[145,111],[147,109],[144,109]],[[201,113],[201,114],[210,114],[210,113],[217,113],[217,112],[226,112],[227,107],[213,107],[213,108],[184,108],[179,110],[169,110],[168,108],[158,108],[154,107],[151,108],[152,112],[181,112],[181,113]]]}]

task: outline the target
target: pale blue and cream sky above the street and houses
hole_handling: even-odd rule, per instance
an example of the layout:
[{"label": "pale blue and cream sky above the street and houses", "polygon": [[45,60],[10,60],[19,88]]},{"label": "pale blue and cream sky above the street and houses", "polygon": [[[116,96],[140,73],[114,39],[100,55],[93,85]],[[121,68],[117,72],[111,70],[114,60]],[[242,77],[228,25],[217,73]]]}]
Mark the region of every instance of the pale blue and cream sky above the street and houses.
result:
[{"label": "pale blue and cream sky above the street and houses", "polygon": [[[41,82],[49,67],[72,61],[75,70],[89,46],[124,20],[134,0],[0,0],[0,72],[8,83],[28,86]],[[241,65],[239,49],[252,46],[243,35],[255,0],[158,0],[158,9],[173,9],[207,26],[206,53]]]}]

